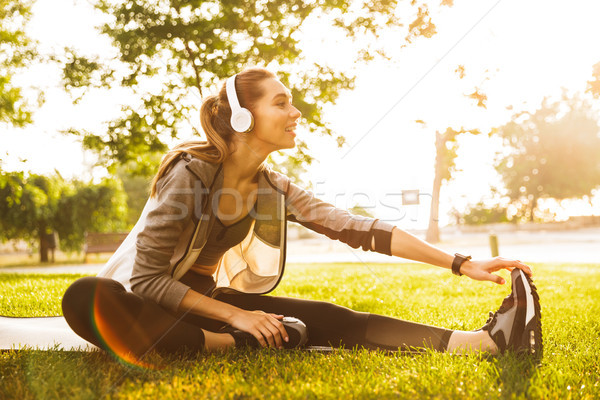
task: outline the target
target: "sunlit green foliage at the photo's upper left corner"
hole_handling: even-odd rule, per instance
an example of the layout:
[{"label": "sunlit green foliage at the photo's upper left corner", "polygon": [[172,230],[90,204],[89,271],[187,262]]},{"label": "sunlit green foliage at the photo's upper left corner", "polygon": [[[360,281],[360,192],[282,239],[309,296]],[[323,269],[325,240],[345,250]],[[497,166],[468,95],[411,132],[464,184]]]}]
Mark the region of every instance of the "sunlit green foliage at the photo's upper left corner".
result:
[{"label": "sunlit green foliage at the photo's upper left corner", "polygon": [[14,76],[36,58],[35,43],[25,34],[31,1],[0,2],[0,123],[23,126],[31,122],[31,108]]}]

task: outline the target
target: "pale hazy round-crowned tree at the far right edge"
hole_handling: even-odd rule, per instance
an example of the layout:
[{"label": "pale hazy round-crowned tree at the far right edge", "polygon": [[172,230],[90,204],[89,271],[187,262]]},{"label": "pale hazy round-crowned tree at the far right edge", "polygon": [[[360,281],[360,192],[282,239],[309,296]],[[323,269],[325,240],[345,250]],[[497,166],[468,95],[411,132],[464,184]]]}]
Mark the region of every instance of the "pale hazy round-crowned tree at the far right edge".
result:
[{"label": "pale hazy round-crowned tree at the far right edge", "polygon": [[542,101],[497,129],[509,153],[496,170],[518,217],[534,221],[541,198],[580,198],[600,185],[600,128],[591,104],[579,95]]}]

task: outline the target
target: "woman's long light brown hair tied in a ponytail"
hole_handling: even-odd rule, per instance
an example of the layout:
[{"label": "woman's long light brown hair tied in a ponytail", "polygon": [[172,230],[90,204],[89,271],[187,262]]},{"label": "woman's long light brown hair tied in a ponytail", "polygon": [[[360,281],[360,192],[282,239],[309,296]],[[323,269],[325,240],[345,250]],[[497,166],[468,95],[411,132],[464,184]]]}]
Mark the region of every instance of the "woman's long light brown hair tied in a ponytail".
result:
[{"label": "woman's long light brown hair tied in a ponytail", "polygon": [[[256,102],[264,95],[260,83],[269,78],[276,76],[267,69],[257,67],[245,69],[237,74],[235,88],[240,105],[252,112]],[[237,133],[231,127],[230,119],[231,107],[223,84],[219,94],[207,97],[200,108],[200,124],[208,140],[185,142],[171,149],[163,157],[152,180],[150,197],[156,195],[157,182],[169,172],[183,153],[214,164],[225,161],[235,151],[234,137]]]}]

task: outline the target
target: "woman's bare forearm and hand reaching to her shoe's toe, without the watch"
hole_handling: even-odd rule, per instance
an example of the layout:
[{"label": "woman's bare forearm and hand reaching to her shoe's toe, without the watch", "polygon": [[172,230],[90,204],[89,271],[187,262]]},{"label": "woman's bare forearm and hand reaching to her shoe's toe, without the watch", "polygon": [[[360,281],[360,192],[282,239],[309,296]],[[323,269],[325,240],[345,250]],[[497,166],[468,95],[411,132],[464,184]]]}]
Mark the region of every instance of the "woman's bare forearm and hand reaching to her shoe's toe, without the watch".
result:
[{"label": "woman's bare forearm and hand reaching to her shoe's toe, without the watch", "polygon": [[[452,268],[452,261],[454,260],[453,255],[430,245],[398,227],[394,228],[392,231],[391,250],[393,256],[420,261],[447,269]],[[531,268],[528,265],[523,264],[518,260],[509,260],[502,257],[482,261],[465,261],[460,267],[460,272],[478,281],[492,281],[498,284],[504,284],[504,279],[492,272],[501,269],[512,271],[514,268],[520,268],[528,275],[531,275],[532,273]]]}]

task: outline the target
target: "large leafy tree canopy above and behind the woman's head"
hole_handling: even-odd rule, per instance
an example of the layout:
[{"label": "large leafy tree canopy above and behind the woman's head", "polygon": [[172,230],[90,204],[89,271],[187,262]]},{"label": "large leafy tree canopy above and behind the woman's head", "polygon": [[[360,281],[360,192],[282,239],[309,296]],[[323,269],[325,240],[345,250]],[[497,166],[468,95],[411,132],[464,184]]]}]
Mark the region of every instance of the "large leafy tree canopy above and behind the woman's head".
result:
[{"label": "large leafy tree canopy above and behind the woman's head", "polygon": [[[303,124],[331,136],[322,122],[323,107],[335,102],[340,91],[352,88],[354,76],[305,59],[299,33],[310,29],[315,19],[328,21],[331,29],[355,40],[360,60],[370,60],[385,55],[377,47],[383,29],[403,26],[396,15],[397,0],[98,0],[95,4],[110,17],[101,32],[112,40],[118,61],[103,62],[68,50],[64,86],[75,101],[94,87],[127,88],[134,100],[123,105],[122,115],[105,132],[76,127],[69,131],[82,138],[84,147],[98,151],[109,167],[136,160],[138,172],[146,175],[155,166],[142,155],[164,152],[165,142],[190,125],[199,105],[193,95],[201,98],[214,91],[218,81],[247,65],[276,70],[290,88]],[[415,11],[404,41],[435,34],[427,5],[415,1],[410,7]],[[336,140],[340,146],[344,143],[343,136]],[[299,141],[293,157],[310,163],[305,142]]]}]

